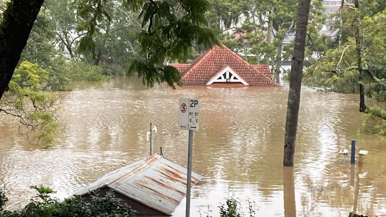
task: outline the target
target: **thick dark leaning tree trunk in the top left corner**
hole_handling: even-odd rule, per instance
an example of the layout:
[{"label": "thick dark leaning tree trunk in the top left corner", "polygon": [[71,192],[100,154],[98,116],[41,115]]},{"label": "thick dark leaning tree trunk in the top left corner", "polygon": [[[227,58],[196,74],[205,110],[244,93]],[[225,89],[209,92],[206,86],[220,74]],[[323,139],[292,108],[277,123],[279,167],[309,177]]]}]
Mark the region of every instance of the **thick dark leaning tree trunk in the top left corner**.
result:
[{"label": "thick dark leaning tree trunk in the top left corner", "polygon": [[13,0],[0,25],[0,99],[8,90],[14,70],[44,0]]}]

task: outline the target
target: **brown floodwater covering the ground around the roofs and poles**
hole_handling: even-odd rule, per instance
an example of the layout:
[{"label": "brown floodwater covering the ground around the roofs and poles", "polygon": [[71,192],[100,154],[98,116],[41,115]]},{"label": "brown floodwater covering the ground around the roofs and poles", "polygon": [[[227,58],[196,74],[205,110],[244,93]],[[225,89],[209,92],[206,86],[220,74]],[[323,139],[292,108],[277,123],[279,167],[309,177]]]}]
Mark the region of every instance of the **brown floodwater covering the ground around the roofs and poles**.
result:
[{"label": "brown floodwater covering the ground around the roofs and poles", "polygon": [[[29,145],[17,121],[0,116],[0,188],[7,209],[34,196],[43,183],[68,197],[108,171],[149,153],[146,132],[158,128],[154,150],[186,166],[188,131],[178,129],[179,98],[200,99],[200,130],[193,137],[193,171],[203,176],[192,189],[191,216],[209,206],[211,216],[228,195],[256,202],[256,216],[386,215],[386,138],[358,132],[364,119],[358,95],[303,87],[295,166],[283,162],[288,86],[279,88],[185,87],[151,90],[135,78],[76,83],[59,92],[63,114],[50,150]],[[350,166],[350,149],[369,155]],[[174,216],[185,215],[185,200]],[[202,216],[206,216],[202,214]]]}]

